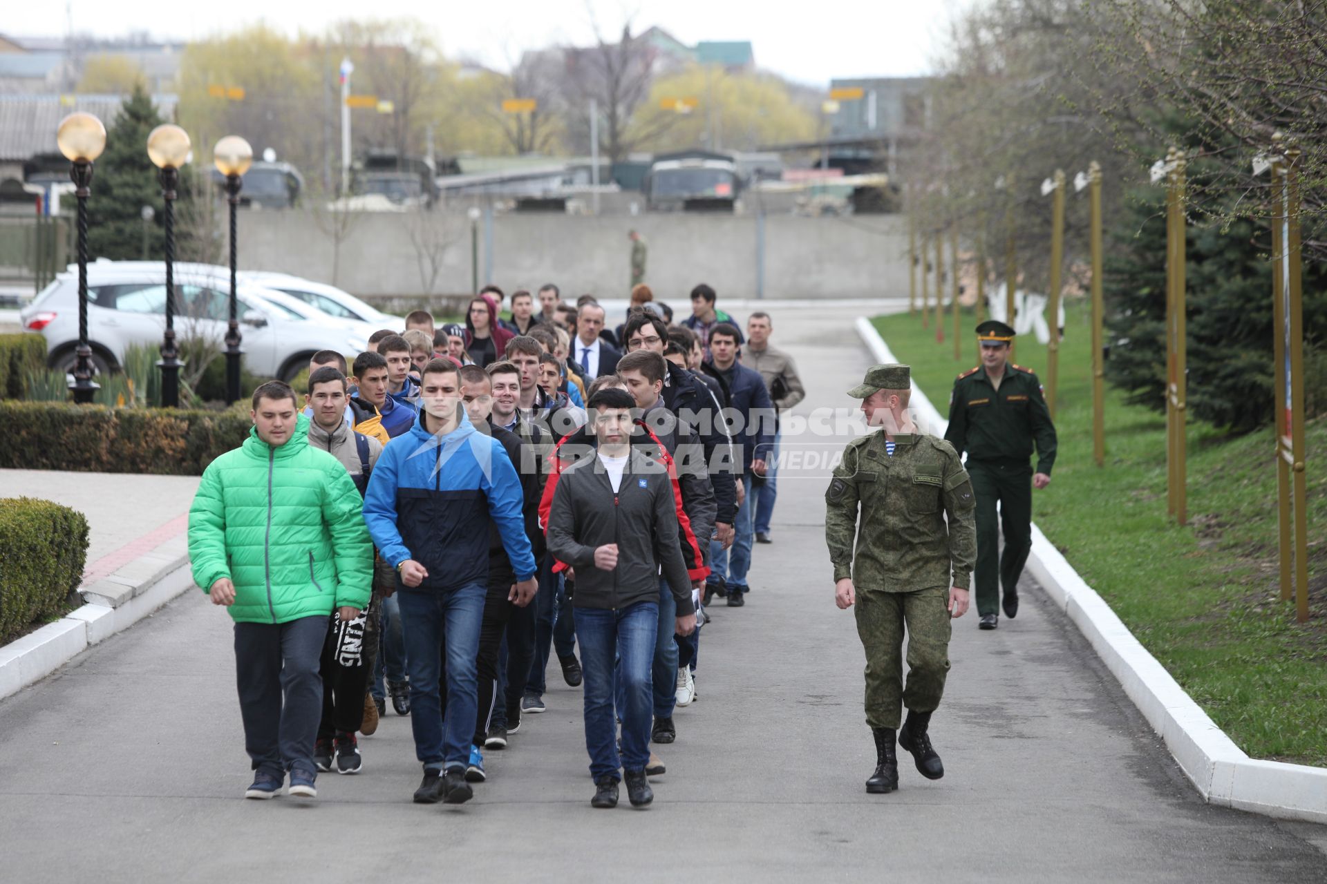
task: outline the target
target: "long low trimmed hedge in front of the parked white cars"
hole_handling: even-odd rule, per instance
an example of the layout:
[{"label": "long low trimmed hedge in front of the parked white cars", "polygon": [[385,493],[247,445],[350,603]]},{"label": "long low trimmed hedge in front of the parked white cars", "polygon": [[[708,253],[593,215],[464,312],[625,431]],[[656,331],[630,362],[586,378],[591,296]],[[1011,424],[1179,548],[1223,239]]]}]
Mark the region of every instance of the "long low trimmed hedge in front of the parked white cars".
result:
[{"label": "long low trimmed hedge in front of the parked white cars", "polygon": [[202,476],[244,441],[252,420],[248,403],[202,411],[5,400],[0,425],[0,467]]}]

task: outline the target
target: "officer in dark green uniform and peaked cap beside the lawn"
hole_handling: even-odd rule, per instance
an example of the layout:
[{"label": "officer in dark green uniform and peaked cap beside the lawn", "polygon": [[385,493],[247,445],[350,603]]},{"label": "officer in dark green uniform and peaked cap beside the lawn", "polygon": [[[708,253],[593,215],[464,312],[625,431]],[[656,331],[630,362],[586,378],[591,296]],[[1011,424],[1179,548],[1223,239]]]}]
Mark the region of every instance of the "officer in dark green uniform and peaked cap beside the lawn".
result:
[{"label": "officer in dark green uniform and peaked cap beside the lawn", "polygon": [[[977,326],[977,339],[982,364],[954,382],[945,439],[959,453],[967,452],[967,474],[977,492],[977,615],[982,630],[994,630],[999,624],[1001,586],[1006,616],[1018,614],[1018,578],[1032,550],[1032,489],[1051,482],[1055,425],[1036,375],[1009,360],[1014,330],[989,319]],[[1034,443],[1035,472],[1028,463]]]}]

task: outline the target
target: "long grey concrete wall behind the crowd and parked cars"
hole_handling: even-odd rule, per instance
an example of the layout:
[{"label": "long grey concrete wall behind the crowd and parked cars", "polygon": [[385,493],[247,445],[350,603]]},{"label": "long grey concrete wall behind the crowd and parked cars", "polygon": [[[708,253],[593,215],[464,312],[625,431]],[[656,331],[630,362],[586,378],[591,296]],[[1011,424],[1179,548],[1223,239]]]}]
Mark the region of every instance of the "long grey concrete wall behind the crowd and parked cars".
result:
[{"label": "long grey concrete wall behind the crowd and parked cars", "polygon": [[[350,219],[348,223],[345,219]],[[334,260],[336,225],[342,224]],[[479,223],[479,282],[507,292],[556,282],[564,296],[625,298],[630,243],[649,244],[645,281],[660,300],[685,302],[697,282],[725,297],[756,296],[755,216],[575,215],[492,216],[492,254]],[[443,212],[244,212],[242,269],[284,270],[336,282],[360,296],[437,296],[470,292],[470,223]],[[880,297],[908,286],[908,232],[901,216],[766,216],[764,297]],[[336,264],[336,272],[333,265]],[[433,268],[437,276],[430,281]],[[492,268],[486,278],[484,268]]]}]

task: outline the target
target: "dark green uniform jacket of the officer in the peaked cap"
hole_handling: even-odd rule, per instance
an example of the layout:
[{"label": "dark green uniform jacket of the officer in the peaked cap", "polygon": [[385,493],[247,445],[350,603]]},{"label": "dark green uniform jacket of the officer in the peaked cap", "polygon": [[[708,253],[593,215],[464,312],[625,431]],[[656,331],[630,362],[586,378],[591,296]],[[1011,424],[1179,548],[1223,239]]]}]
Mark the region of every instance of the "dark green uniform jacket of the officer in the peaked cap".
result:
[{"label": "dark green uniform jacket of the officer in the peaked cap", "polygon": [[1036,444],[1036,472],[1055,465],[1055,424],[1042,384],[1031,368],[1005,366],[999,390],[978,366],[958,375],[949,398],[945,441],[969,461],[1018,461],[1027,465]]}]

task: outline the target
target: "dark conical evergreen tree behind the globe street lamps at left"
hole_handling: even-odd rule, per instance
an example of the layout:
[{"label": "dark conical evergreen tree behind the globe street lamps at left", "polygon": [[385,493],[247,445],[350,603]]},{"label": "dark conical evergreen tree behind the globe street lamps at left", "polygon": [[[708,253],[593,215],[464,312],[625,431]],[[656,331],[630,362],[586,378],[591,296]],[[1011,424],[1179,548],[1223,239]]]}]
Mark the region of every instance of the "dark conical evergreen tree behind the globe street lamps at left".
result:
[{"label": "dark conical evergreen tree behind the globe street lamps at left", "polygon": [[[162,190],[147,158],[147,135],[162,123],[142,85],[121,106],[106,133],[88,200],[88,253],[92,258],[137,260],[143,250],[142,209],[155,211],[147,225],[147,256],[165,258]],[[178,205],[176,205],[178,209]]]}]

